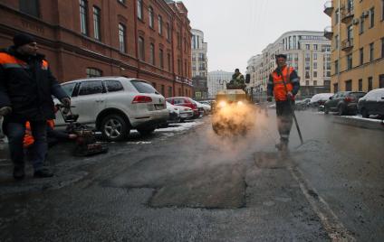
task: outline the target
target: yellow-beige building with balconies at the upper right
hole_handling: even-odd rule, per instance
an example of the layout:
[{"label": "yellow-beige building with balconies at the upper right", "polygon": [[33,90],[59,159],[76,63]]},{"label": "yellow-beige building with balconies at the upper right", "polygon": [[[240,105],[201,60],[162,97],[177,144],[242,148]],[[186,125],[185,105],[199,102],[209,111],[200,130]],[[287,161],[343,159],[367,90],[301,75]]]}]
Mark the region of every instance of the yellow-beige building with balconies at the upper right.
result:
[{"label": "yellow-beige building with balconies at the upper right", "polygon": [[335,0],[331,17],[331,91],[384,88],[384,0]]}]

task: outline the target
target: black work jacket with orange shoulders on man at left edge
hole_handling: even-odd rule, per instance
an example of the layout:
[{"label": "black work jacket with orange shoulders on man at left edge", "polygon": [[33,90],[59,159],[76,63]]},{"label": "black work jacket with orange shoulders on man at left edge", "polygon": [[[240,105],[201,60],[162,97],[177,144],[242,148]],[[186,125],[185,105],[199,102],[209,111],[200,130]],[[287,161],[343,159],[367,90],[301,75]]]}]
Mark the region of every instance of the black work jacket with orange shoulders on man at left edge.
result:
[{"label": "black work jacket with orange shoulders on man at left edge", "polygon": [[12,107],[5,120],[54,119],[53,98],[68,97],[44,56],[24,56],[13,47],[0,51],[0,107]]}]

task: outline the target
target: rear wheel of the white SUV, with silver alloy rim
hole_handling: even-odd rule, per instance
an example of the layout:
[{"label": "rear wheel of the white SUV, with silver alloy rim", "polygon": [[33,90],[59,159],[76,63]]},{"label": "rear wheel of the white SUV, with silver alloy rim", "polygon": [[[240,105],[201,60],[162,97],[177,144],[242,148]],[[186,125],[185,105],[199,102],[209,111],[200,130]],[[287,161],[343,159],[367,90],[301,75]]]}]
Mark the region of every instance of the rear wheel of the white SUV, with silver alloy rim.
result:
[{"label": "rear wheel of the white SUV, with silver alloy rim", "polygon": [[108,141],[121,141],[130,135],[127,121],[120,115],[108,115],[101,121],[101,135]]}]

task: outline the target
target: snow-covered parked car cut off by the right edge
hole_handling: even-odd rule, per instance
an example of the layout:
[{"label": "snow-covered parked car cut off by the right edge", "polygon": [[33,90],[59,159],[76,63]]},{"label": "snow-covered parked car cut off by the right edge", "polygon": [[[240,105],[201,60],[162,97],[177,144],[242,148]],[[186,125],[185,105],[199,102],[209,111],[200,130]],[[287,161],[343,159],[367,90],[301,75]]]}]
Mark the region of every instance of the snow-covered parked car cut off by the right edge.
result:
[{"label": "snow-covered parked car cut off by the right edge", "polygon": [[361,116],[379,115],[384,117],[384,88],[371,90],[359,99],[358,108]]}]

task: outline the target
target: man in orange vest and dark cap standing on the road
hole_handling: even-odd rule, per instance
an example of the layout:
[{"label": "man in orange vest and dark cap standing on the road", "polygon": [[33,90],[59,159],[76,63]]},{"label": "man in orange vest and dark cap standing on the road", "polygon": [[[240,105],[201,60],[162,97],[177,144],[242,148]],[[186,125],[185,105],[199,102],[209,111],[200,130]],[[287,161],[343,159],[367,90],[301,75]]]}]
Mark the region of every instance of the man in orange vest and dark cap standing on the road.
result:
[{"label": "man in orange vest and dark cap standing on the road", "polygon": [[275,56],[277,68],[269,76],[267,85],[267,100],[276,101],[277,127],[280,135],[280,144],[276,144],[278,150],[288,149],[289,135],[293,125],[294,97],[300,89],[300,78],[293,67],[286,64],[287,56],[278,54]]}]

